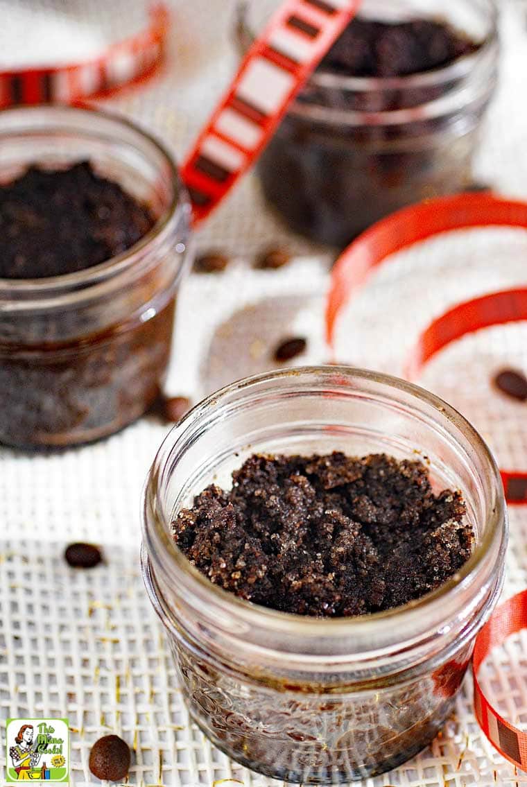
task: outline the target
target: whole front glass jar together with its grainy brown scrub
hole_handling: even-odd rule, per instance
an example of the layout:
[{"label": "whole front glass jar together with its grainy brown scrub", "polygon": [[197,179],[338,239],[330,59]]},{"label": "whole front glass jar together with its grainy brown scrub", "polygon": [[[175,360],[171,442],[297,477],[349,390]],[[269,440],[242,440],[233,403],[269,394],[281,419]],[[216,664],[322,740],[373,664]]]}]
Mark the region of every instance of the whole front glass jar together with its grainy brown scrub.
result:
[{"label": "whole front glass jar together with its grainy brown scrub", "polygon": [[444,401],[378,372],[294,368],[217,391],[171,431],[142,567],[206,736],[261,774],[336,784],[404,763],[444,725],[506,537],[496,463]]}]

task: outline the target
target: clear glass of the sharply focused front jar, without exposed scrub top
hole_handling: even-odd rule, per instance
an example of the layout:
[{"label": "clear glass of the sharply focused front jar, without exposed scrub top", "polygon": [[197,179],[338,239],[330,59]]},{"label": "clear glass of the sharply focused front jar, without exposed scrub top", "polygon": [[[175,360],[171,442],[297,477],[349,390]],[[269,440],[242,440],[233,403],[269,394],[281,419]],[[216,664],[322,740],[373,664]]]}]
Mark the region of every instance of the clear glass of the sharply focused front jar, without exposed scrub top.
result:
[{"label": "clear glass of the sharply focused front jar, without exposed scrub top", "polygon": [[[249,604],[201,575],[171,521],[252,453],[426,456],[433,484],[463,490],[477,546],[459,574],[403,608],[315,619]],[[346,367],[236,382],[171,430],[146,483],[142,571],[168,633],[186,704],[243,765],[322,784],[411,758],[454,704],[474,637],[503,582],[499,471],[469,423],[407,382]]]}]

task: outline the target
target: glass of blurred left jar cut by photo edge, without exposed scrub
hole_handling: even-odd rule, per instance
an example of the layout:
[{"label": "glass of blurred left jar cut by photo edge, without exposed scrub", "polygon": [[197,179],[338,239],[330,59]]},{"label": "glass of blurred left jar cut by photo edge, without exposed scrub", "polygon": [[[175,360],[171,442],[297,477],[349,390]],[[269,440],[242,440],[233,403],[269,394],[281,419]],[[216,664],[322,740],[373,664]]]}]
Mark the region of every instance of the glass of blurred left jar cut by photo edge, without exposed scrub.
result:
[{"label": "glass of blurred left jar cut by photo edge, without exposed scrub", "polygon": [[30,164],[89,160],[149,205],[157,223],[131,249],[86,270],[0,279],[0,441],[74,445],[131,423],[164,382],[175,295],[190,259],[190,205],[175,162],[135,125],[93,109],[0,115],[0,179]]}]

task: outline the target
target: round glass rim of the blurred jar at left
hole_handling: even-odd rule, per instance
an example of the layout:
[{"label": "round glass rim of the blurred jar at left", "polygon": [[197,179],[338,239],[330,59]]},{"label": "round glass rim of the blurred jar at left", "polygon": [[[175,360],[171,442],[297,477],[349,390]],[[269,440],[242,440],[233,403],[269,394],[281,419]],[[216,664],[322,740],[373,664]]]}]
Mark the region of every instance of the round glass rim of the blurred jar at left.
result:
[{"label": "round glass rim of the blurred jar at left", "polygon": [[[190,199],[186,193],[186,188],[182,183],[179,176],[179,168],[176,164],[175,158],[171,155],[168,149],[164,146],[163,142],[149,131],[135,124],[134,121],[126,117],[120,116],[118,113],[108,112],[95,108],[91,105],[77,104],[75,106],[65,105],[45,105],[45,106],[24,106],[24,107],[11,107],[4,109],[2,116],[0,116],[0,123],[3,119],[9,116],[20,116],[20,119],[31,119],[31,116],[44,116],[46,124],[42,127],[35,126],[35,131],[53,131],[57,126],[62,127],[67,123],[68,118],[77,116],[77,118],[86,116],[87,124],[90,123],[91,118],[99,118],[103,121],[108,121],[116,126],[116,139],[119,137],[118,129],[125,128],[135,135],[139,140],[149,143],[153,149],[160,154],[160,158],[164,165],[168,168],[170,173],[170,180],[172,186],[172,197],[170,205],[162,215],[157,219],[153,227],[139,238],[133,246],[108,260],[92,265],[90,268],[73,273],[65,273],[55,276],[42,276],[39,279],[2,279],[0,278],[0,301],[9,303],[13,299],[13,310],[17,308],[26,308],[27,302],[31,301],[32,305],[44,308],[47,303],[42,304],[40,299],[50,299],[55,301],[56,298],[67,296],[68,294],[82,294],[85,297],[86,291],[91,288],[99,287],[104,283],[112,280],[120,275],[126,274],[129,270],[134,269],[141,260],[145,257],[145,253],[152,247],[154,242],[162,243],[165,240],[170,227],[174,224],[181,226],[186,218],[190,216]],[[64,125],[64,128],[66,126]],[[89,129],[89,125],[88,125]],[[72,131],[78,129],[73,128]],[[24,127],[24,131],[28,128]],[[31,130],[29,130],[31,133]],[[10,135],[17,133],[17,127],[8,127],[6,132],[2,132],[0,128],[0,141],[2,136],[6,139]],[[84,132],[87,136],[98,137],[98,132]],[[185,238],[186,242],[186,238]],[[183,264],[180,265],[177,278],[182,275]]]}]

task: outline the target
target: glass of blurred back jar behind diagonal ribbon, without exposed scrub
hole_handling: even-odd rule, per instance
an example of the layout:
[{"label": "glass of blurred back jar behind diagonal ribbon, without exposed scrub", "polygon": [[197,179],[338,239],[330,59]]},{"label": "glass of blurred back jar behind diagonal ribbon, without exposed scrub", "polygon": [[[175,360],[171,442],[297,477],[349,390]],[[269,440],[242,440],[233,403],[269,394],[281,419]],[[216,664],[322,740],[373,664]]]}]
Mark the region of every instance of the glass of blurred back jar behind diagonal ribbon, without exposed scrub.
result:
[{"label": "glass of blurred back jar behind diagonal ribbon, without exposed scrub", "polygon": [[[244,52],[275,0],[241,2]],[[392,78],[319,68],[260,157],[267,201],[293,230],[344,247],[405,205],[471,182],[481,121],[496,87],[494,0],[363,0],[362,17],[439,18],[481,42],[444,68]]]}]

